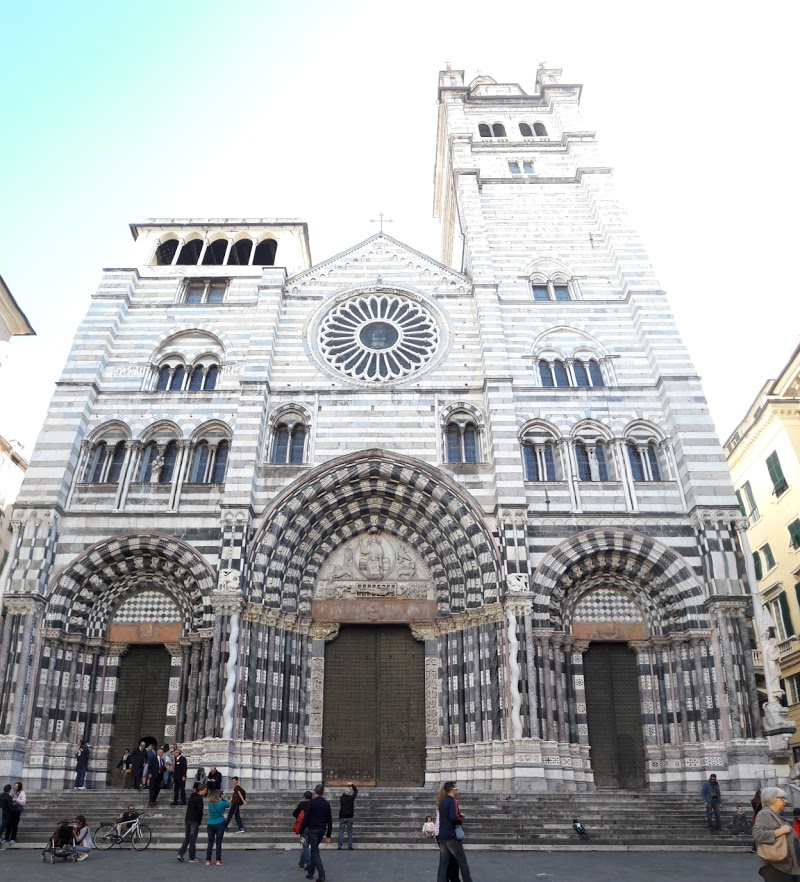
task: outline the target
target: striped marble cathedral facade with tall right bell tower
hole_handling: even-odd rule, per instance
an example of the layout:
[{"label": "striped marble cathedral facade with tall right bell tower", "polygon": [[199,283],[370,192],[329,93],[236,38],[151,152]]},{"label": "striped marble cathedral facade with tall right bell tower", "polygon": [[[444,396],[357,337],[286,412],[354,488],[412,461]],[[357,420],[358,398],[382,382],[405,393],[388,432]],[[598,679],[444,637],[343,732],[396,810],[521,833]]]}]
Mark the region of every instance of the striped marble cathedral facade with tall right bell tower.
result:
[{"label": "striped marble cathedral facade with tall right bell tower", "polygon": [[440,73],[440,261],[132,225],[15,509],[6,777],[144,735],[256,788],[762,776],[741,515],[580,93]]}]

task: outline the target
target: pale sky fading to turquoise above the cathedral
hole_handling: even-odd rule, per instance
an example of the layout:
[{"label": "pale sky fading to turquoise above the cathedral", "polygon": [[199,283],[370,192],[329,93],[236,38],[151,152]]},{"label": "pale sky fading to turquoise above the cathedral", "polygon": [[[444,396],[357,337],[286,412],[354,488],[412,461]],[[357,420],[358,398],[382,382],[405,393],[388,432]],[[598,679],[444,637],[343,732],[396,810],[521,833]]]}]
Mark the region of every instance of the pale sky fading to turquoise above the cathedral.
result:
[{"label": "pale sky fading to turquoise above the cathedral", "polygon": [[148,217],[289,217],[320,262],[376,231],[438,258],[445,62],[584,85],[724,441],[800,342],[796,2],[6,0],[0,275],[37,332],[0,369],[31,452],[103,267]]}]

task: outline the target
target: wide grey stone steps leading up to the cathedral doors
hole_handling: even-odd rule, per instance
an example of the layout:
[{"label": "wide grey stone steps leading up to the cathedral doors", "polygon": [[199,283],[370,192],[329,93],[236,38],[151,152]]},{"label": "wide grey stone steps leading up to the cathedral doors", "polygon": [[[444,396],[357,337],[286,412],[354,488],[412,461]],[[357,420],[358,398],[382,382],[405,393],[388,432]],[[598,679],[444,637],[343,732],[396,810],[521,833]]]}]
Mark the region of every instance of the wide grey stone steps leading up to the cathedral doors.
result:
[{"label": "wide grey stone steps leading up to the cathedral doors", "polygon": [[[334,845],[339,790],[331,792]],[[21,847],[41,848],[61,818],[84,814],[92,829],[111,821],[128,801],[143,809],[153,831],[151,848],[175,849],[183,838],[184,809],[162,799],[155,809],[147,795],[131,799],[130,790],[28,791],[28,810],[20,824]],[[631,791],[594,793],[467,792],[460,800],[467,817],[466,844],[481,849],[562,849],[594,846],[656,849],[711,849],[747,846],[727,832],[737,796],[749,808],[752,794],[727,794],[723,831],[711,833],[697,794]],[[292,811],[299,795],[283,791],[253,791],[243,811],[247,832],[230,832],[225,848],[295,848]],[[422,789],[370,789],[356,801],[354,842],[357,848],[433,848],[420,834],[426,814],[433,812],[434,795]],[[580,843],[572,831],[579,818],[591,835]],[[205,841],[201,829],[199,842]]]}]

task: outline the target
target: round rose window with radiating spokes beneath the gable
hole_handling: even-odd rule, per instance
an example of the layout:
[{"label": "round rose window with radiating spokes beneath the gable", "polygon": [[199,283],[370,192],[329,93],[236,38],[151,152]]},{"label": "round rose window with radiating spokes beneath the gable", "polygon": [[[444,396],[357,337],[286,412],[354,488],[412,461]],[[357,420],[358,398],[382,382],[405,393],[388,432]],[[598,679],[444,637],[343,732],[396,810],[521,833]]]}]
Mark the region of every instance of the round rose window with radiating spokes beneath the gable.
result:
[{"label": "round rose window with radiating spokes beneath the gable", "polygon": [[364,294],[322,320],[319,348],[354,380],[400,380],[430,361],[439,343],[433,316],[397,294]]}]

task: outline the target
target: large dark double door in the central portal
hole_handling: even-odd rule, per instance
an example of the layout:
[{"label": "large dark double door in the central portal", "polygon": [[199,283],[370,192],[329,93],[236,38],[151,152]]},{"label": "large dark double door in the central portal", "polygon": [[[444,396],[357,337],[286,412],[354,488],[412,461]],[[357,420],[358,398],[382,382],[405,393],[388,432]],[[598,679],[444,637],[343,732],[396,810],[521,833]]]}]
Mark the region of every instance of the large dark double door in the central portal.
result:
[{"label": "large dark double door in the central portal", "polygon": [[327,784],[424,782],[424,666],[424,645],[407,626],[343,626],[325,647]]}]

